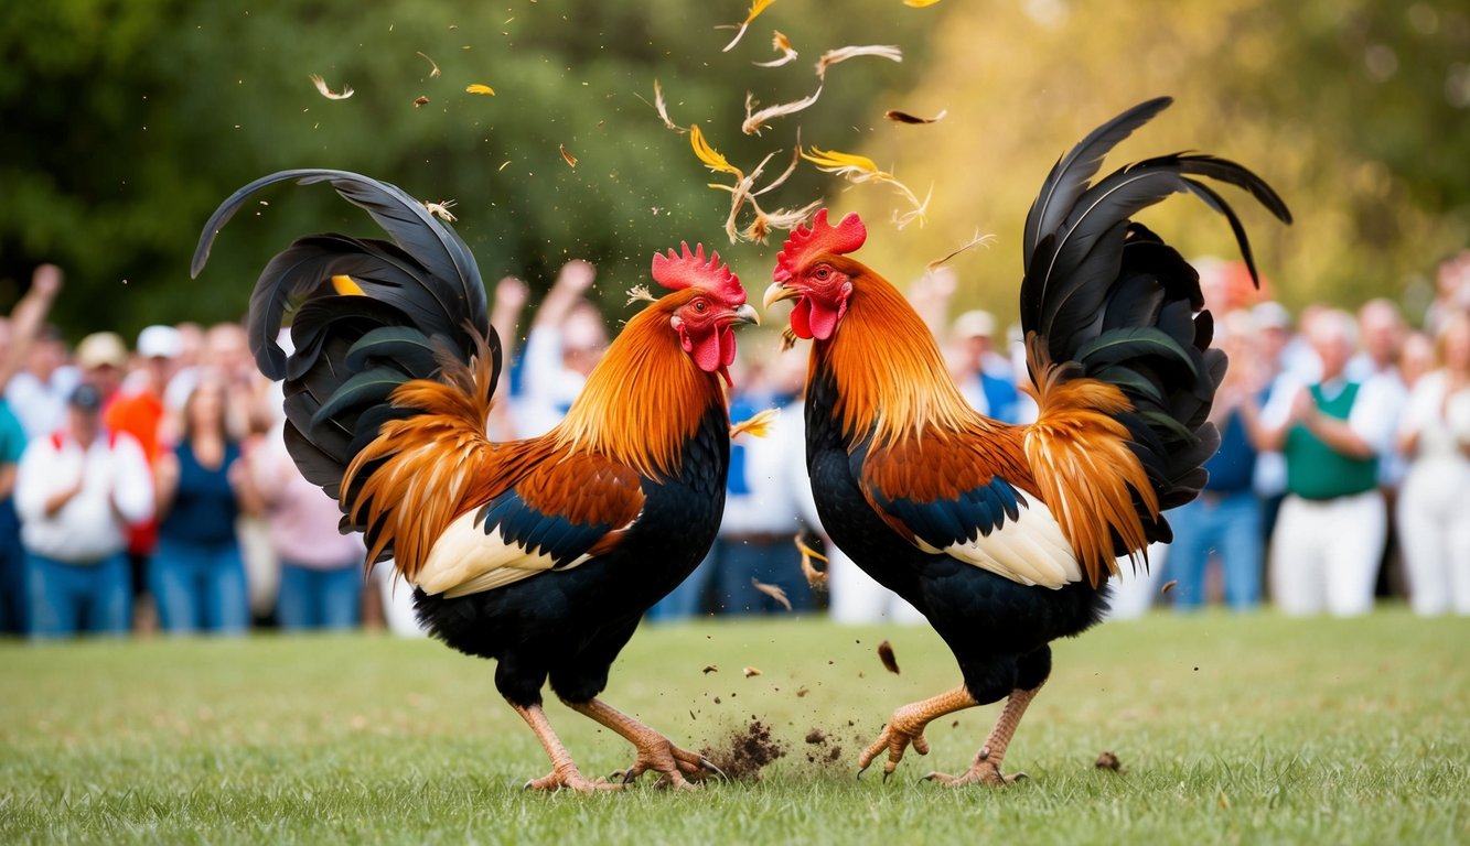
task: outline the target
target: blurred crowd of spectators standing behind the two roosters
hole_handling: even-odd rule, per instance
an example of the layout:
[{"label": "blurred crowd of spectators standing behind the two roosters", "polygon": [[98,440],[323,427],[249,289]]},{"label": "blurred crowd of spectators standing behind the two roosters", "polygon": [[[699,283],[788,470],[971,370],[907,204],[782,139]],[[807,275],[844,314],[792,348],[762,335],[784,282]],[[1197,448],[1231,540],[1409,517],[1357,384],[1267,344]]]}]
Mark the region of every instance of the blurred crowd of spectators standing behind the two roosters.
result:
[{"label": "blurred crowd of spectators standing behind the two roosters", "polygon": [[[1222,602],[1286,614],[1369,611],[1407,596],[1424,615],[1470,614],[1470,251],[1442,261],[1411,328],[1391,300],[1294,320],[1201,261],[1217,344],[1230,355],[1213,419],[1222,433],[1202,495],[1172,513],[1172,545],[1114,585],[1114,615]],[[562,267],[529,319],[529,288],[494,291],[512,366],[494,439],[545,432],[607,348],[585,261]],[[910,289],[964,397],[1010,423],[1033,419],[1017,329],[985,311],[951,319],[957,281]],[[410,590],[337,530],[340,511],[297,473],[281,438],[279,385],[259,375],[240,325],[156,325],[129,348],[112,332],[68,350],[46,316],[62,289],[43,266],[0,320],[0,632],[241,633],[251,627],[415,632]],[[525,344],[517,348],[516,339]],[[781,411],[767,438],[732,445],[725,521],[697,571],[650,612],[826,611],[847,623],[919,614],[823,542],[806,480],[806,351],[747,335],[734,420]],[[807,585],[804,535],[825,549]]]}]

